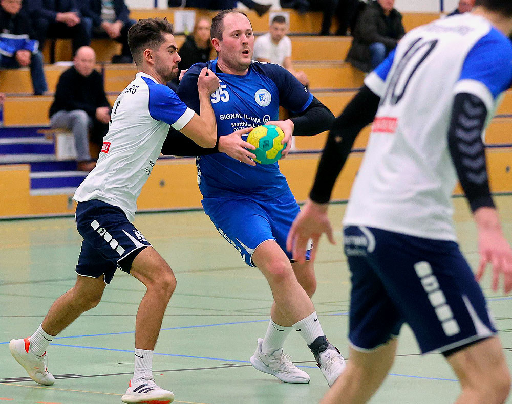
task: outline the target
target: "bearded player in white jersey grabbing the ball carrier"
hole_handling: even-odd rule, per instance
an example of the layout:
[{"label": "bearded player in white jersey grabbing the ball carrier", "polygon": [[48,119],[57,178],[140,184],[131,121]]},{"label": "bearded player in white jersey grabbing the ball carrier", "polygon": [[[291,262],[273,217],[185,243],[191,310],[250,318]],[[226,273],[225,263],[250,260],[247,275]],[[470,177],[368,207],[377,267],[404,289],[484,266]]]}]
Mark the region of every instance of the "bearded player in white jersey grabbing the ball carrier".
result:
[{"label": "bearded player in white jersey grabbing the ball carrier", "polygon": [[217,126],[210,95],[219,80],[206,68],[201,71],[198,116],[165,86],[176,77],[181,60],[172,24],[158,18],[139,20],[130,28],[128,41],[139,73],[117,98],[98,163],[73,197],[78,202],[77,229],[83,237],[76,284],[53,303],[32,336],[12,340],[9,348],[32,380],[52,385],[48,345],[100,302],[105,286],[120,268],[147,288],[135,320],[135,371],[121,400],[166,404],[174,394],[156,385],[152,358],[176,278],[131,221],[170,126],[202,147],[215,146]]}]

